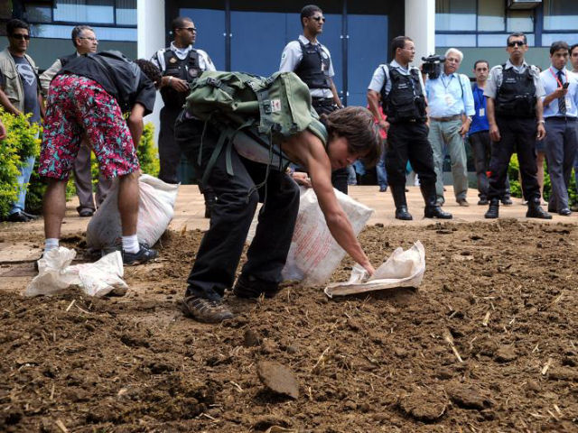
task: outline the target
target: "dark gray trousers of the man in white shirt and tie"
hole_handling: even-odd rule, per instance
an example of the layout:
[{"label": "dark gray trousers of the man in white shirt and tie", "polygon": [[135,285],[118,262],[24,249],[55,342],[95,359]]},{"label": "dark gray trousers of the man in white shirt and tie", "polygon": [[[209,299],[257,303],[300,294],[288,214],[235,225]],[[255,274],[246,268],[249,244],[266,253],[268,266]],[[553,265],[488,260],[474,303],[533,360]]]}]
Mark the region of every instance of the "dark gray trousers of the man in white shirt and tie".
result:
[{"label": "dark gray trousers of the man in white shirt and tie", "polygon": [[564,117],[548,117],[545,120],[545,132],[545,158],[552,182],[548,208],[559,212],[568,207],[568,185],[578,146],[576,121]]}]

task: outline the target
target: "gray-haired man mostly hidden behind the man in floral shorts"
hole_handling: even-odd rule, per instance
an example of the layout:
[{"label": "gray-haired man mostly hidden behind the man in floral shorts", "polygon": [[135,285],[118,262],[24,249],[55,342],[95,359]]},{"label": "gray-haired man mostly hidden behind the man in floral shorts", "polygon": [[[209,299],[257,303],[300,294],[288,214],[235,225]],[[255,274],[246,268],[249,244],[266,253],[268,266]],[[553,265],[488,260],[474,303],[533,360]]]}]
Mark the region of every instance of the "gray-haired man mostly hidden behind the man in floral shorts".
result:
[{"label": "gray-haired man mostly hidden behind the man in floral shorts", "polygon": [[[51,84],[52,78],[62,69],[70,60],[76,59],[78,56],[83,56],[89,52],[97,52],[98,39],[92,29],[88,25],[77,25],[72,29],[70,35],[72,44],[76,48],[76,52],[68,56],[61,57],[52,63],[49,69],[46,69],[40,76],[42,86],[42,94],[44,97],[48,95],[48,88]],[[92,217],[94,211],[102,204],[107,197],[108,189],[111,186],[111,180],[105,178],[102,174],[98,174],[97,187],[97,207],[92,196],[92,173],[90,171],[90,146],[86,138],[82,139],[80,143],[79,153],[74,161],[74,185],[76,186],[76,193],[79,196],[79,207],[77,211],[80,217]]]}]

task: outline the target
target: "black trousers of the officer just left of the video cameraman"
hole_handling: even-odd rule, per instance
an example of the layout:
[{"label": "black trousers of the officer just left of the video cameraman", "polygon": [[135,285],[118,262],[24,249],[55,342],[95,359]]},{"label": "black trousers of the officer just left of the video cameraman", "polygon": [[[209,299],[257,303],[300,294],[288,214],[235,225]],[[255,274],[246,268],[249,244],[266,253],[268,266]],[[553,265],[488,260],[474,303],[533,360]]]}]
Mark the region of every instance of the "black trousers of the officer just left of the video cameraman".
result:
[{"label": "black trousers of the officer just left of the video cameraman", "polygon": [[419,175],[420,184],[435,185],[433,151],[427,139],[424,123],[402,122],[391,124],[387,131],[387,181],[394,187],[405,187],[407,160]]}]

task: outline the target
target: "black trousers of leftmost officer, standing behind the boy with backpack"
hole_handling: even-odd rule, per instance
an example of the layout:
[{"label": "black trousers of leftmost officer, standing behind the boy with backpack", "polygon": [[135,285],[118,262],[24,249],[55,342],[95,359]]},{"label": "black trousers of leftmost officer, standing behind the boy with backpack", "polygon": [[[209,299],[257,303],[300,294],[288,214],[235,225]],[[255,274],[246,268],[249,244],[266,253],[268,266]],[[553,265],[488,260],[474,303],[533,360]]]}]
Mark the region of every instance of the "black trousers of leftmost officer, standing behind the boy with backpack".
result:
[{"label": "black trousers of leftmost officer, standing behind the boy with backpack", "polygon": [[179,183],[177,170],[181,163],[181,148],[174,139],[174,122],[181,113],[181,108],[164,106],[161,109],[159,131],[159,162],[161,170],[159,179],[167,183]]}]

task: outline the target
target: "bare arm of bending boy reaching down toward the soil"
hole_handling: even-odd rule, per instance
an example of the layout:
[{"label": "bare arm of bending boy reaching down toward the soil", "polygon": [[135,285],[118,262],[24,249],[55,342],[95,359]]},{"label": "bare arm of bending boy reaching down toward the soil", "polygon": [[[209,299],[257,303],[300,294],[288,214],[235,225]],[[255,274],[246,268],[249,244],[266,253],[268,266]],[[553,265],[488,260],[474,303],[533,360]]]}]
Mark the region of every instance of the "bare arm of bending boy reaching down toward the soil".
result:
[{"label": "bare arm of bending boy reaching down toward the soil", "polygon": [[[370,274],[375,269],[369,263],[368,256],[353,233],[350,220],[340,207],[331,185],[331,163],[325,152],[323,144],[317,136],[307,131],[296,136],[301,144],[304,155],[301,161],[311,176],[312,189],[317,195],[319,207],[321,207],[325,223],[335,241],[343,248],[351,258],[363,266]],[[306,142],[304,144],[303,142]]]}]

